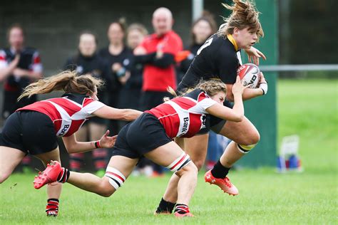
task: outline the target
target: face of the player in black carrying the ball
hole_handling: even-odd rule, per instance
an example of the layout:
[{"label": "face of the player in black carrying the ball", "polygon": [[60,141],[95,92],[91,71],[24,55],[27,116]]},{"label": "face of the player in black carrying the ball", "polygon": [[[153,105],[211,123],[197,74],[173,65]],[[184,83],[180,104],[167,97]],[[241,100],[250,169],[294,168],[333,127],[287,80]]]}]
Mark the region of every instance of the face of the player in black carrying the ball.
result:
[{"label": "face of the player in black carrying the ball", "polygon": [[242,30],[235,28],[233,38],[237,42],[238,48],[250,48],[258,41],[258,36],[255,31],[249,30],[249,28],[243,28]]}]

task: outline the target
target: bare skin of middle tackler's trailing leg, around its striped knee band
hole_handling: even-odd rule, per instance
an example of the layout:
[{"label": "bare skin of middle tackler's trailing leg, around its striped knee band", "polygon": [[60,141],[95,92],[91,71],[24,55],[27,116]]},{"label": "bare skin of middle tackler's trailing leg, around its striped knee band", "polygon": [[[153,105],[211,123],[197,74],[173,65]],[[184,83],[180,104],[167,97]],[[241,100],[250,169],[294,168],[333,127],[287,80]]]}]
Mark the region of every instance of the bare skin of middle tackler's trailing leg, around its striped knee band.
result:
[{"label": "bare skin of middle tackler's trailing leg, around its striped knee band", "polygon": [[[118,169],[125,177],[128,177],[137,164],[138,159],[130,159],[116,155],[111,157],[108,167]],[[90,173],[71,172],[68,179],[69,184],[81,188],[87,192],[93,192],[103,197],[110,197],[116,189],[109,183],[108,177],[97,177]]]}]

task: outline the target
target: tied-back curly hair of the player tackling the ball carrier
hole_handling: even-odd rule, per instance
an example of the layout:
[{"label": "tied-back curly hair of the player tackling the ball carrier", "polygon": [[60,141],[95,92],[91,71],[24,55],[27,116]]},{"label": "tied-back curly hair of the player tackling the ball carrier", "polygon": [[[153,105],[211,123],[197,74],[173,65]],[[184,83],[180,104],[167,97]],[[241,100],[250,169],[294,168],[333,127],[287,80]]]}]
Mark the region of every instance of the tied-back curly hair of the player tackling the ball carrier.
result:
[{"label": "tied-back curly hair of the player tackling the ball carrier", "polygon": [[[178,95],[175,92],[175,90],[173,90],[173,88],[171,87],[168,87],[168,92],[176,98],[176,97],[183,96],[186,93],[190,93],[191,91],[195,89],[204,90],[205,93],[207,93],[207,95],[209,95],[210,97],[212,97],[213,95],[216,95],[220,91],[224,92],[225,95],[227,95],[227,85],[225,85],[225,83],[222,83],[222,81],[220,80],[213,80],[213,79],[206,80],[206,81],[201,80],[200,83],[198,83],[195,86],[195,88],[188,88],[187,90],[183,91],[181,95]],[[163,98],[163,100],[166,102],[170,99],[168,97],[165,97]]]}]

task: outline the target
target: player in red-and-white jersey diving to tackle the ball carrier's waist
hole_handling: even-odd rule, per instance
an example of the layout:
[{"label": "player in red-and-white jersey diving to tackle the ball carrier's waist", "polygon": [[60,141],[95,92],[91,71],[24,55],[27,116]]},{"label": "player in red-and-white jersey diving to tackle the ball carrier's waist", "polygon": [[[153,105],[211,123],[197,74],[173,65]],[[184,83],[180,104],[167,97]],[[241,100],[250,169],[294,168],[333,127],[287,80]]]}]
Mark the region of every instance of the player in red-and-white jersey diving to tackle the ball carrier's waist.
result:
[{"label": "player in red-and-white jersey diving to tackle the ball carrier's waist", "polygon": [[232,87],[235,105],[231,109],[223,105],[226,95],[224,83],[218,80],[201,83],[190,93],[167,100],[124,126],[118,133],[105,177],[70,172],[58,162],[52,162],[34,179],[34,187],[39,189],[44,184],[56,181],[68,182],[88,192],[109,197],[121,187],[138,160],[144,156],[180,177],[175,216],[193,216],[188,204],[195,190],[198,169],[173,138],[193,137],[205,127],[208,114],[224,120],[241,121],[244,118],[243,90],[245,87],[237,78]]}]

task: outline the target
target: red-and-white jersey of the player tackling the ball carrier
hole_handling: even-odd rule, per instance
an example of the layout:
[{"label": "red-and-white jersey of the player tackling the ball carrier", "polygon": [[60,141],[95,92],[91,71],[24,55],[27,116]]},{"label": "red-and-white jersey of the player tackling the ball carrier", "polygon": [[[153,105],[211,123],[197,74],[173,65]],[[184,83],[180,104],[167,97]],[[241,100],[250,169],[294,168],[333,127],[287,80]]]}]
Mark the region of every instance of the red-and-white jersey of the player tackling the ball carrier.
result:
[{"label": "red-and-white jersey of the player tackling the ball carrier", "polygon": [[196,89],[145,112],[160,120],[168,137],[193,137],[205,127],[205,110],[215,103],[203,90]]}]

